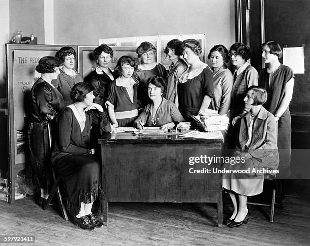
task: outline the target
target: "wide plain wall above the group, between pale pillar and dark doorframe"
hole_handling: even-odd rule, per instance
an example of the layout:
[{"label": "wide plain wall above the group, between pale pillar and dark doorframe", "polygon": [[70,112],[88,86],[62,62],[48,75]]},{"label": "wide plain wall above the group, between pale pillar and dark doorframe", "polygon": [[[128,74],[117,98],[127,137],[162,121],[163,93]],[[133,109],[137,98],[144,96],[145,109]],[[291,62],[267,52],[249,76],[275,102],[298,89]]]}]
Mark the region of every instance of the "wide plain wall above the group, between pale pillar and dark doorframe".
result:
[{"label": "wide plain wall above the group, between pale pillar and dark doorframe", "polygon": [[235,42],[234,8],[231,0],[54,0],[54,41],[97,45],[99,38],[206,33],[209,50]]}]

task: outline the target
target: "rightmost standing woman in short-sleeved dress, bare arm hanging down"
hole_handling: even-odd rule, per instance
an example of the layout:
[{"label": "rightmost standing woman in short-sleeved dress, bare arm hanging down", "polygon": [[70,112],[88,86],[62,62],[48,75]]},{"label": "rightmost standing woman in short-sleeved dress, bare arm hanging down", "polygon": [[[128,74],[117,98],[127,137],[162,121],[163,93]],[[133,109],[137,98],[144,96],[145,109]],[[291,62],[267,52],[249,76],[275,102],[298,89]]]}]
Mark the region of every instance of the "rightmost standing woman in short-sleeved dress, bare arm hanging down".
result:
[{"label": "rightmost standing woman in short-sleeved dress, bare arm hanging down", "polygon": [[264,107],[276,117],[278,122],[278,149],[280,151],[280,170],[277,177],[290,175],[291,159],[291,115],[289,105],[293,95],[295,76],[291,68],[281,64],[280,45],[275,41],[262,44],[262,58],[266,68],[259,73],[259,86],[268,92]]}]

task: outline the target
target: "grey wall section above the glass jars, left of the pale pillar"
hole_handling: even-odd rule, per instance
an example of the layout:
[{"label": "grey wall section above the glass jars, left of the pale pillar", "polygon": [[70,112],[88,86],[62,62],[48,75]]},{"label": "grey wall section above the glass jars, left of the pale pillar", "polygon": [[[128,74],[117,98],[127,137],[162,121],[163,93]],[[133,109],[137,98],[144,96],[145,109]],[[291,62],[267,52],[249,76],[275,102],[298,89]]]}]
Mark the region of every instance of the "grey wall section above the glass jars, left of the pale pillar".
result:
[{"label": "grey wall section above the glass jars, left of the pale pillar", "polygon": [[33,33],[38,44],[45,43],[43,0],[10,0],[11,36],[16,30],[28,37]]}]

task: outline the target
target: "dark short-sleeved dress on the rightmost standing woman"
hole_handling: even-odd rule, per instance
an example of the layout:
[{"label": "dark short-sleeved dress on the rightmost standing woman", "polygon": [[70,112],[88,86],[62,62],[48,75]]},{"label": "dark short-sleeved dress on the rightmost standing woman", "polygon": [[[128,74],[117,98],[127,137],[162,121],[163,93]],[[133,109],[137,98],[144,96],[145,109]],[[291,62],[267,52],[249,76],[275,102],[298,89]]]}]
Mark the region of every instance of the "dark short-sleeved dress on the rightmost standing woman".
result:
[{"label": "dark short-sleeved dress on the rightmost standing woman", "polygon": [[[273,115],[276,114],[281,105],[286,83],[291,78],[295,78],[292,69],[283,64],[271,74],[267,72],[266,68],[263,68],[259,73],[258,85],[266,89],[268,93],[267,102],[263,106]],[[291,134],[291,114],[287,108],[278,121],[278,150],[280,155],[278,178],[287,178],[291,173]]]}]

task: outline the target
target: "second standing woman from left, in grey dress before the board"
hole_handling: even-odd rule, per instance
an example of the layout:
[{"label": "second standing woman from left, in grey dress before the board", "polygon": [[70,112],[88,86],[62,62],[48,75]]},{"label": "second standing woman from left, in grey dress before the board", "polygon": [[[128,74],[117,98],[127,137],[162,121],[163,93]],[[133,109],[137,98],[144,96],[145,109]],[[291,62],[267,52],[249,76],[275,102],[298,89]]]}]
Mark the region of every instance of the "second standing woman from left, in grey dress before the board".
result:
[{"label": "second standing woman from left, in grey dress before the board", "polygon": [[84,82],[81,74],[76,72],[74,68],[76,53],[72,47],[65,46],[60,48],[56,57],[62,63],[60,74],[57,77],[57,89],[62,94],[65,106],[72,104],[70,92],[72,86],[76,83]]}]

